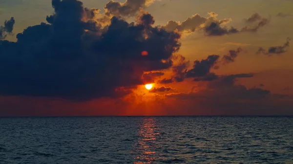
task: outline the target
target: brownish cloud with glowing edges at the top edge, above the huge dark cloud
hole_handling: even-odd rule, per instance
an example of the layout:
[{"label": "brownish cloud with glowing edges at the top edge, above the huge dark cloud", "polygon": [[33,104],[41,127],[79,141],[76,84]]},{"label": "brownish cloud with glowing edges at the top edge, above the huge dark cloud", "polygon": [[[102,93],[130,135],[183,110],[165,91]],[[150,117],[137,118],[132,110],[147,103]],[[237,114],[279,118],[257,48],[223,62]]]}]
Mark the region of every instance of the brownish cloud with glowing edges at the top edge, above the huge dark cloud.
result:
[{"label": "brownish cloud with glowing edges at the top edge, above the huge dark cloud", "polygon": [[111,0],[105,5],[105,15],[116,17],[134,16],[152,2],[153,0],[126,0],[126,2],[121,3]]}]

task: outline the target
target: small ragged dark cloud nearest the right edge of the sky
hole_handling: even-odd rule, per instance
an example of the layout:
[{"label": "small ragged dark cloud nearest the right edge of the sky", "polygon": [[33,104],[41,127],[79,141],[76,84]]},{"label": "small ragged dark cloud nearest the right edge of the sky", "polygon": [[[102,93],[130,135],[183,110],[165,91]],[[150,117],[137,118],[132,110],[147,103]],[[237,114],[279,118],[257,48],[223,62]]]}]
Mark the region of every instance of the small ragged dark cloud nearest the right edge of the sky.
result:
[{"label": "small ragged dark cloud nearest the right edge of the sky", "polygon": [[271,56],[272,54],[283,54],[283,53],[286,53],[287,52],[287,49],[289,46],[290,46],[290,38],[288,37],[286,42],[284,43],[283,46],[272,46],[272,47],[269,47],[268,50],[260,47],[256,54],[264,54],[264,55],[268,55],[268,56]]}]

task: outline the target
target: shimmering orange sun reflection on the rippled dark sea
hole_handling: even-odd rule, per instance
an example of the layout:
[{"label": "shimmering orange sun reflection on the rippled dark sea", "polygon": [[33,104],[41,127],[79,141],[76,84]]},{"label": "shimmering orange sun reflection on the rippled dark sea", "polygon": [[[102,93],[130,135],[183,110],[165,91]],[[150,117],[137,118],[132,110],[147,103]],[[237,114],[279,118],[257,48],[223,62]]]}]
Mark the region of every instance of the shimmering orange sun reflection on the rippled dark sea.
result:
[{"label": "shimmering orange sun reflection on the rippled dark sea", "polygon": [[133,164],[150,164],[155,161],[156,149],[161,147],[157,145],[157,136],[160,134],[158,129],[154,118],[143,120],[138,131],[139,140],[134,148],[139,153]]}]

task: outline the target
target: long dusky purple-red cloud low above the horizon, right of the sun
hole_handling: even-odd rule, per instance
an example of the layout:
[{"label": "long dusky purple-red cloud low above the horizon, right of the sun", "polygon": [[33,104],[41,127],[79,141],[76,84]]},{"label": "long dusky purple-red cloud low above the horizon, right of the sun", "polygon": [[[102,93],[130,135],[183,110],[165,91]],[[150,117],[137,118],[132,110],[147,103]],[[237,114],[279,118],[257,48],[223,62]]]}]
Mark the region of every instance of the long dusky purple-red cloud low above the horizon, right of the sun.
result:
[{"label": "long dusky purple-red cloud low above the horizon, right of the sun", "polygon": [[[243,85],[235,84],[236,78],[252,77],[251,74],[233,74],[222,76],[216,80],[205,83],[204,86],[196,92],[170,94],[167,97],[178,99],[201,99],[209,103],[219,103],[221,100],[227,101],[244,101],[260,100],[270,96],[270,91],[259,88],[247,89]],[[193,89],[194,90],[194,89]],[[219,101],[219,102],[218,102]]]}]

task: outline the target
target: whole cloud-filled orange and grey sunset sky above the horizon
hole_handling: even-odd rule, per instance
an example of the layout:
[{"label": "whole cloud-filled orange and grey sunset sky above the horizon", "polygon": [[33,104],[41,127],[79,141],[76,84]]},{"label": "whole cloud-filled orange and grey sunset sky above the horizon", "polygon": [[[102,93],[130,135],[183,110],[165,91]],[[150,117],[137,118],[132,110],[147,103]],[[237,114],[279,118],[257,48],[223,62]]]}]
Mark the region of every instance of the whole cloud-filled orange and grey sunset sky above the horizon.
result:
[{"label": "whole cloud-filled orange and grey sunset sky above the horizon", "polygon": [[0,116],[293,115],[292,8],[0,0]]}]

